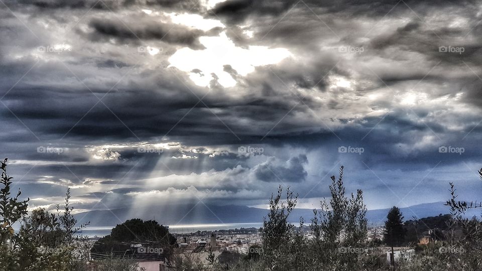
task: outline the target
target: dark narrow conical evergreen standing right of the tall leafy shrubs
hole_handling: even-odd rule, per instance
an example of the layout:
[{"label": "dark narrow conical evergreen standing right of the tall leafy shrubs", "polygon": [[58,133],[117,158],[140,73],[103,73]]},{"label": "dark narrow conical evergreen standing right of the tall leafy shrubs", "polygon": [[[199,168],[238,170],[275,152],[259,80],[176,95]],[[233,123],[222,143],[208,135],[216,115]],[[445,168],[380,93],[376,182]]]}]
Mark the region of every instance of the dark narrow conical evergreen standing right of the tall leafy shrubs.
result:
[{"label": "dark narrow conical evergreen standing right of the tall leafy shrubs", "polygon": [[402,212],[398,207],[393,206],[388,212],[387,221],[385,221],[384,242],[392,247],[394,245],[399,246],[405,240],[405,233]]}]

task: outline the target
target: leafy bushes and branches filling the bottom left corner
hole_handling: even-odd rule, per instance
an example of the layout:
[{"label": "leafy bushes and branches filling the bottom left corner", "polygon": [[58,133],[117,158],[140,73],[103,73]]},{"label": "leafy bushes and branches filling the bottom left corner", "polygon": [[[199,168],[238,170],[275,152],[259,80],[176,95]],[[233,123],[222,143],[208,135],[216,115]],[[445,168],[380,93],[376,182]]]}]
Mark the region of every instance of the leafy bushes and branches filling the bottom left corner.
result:
[{"label": "leafy bushes and branches filling the bottom left corner", "polygon": [[[129,259],[90,261],[91,245],[78,234],[86,224],[75,227],[70,189],[56,213],[39,208],[29,215],[29,200],[19,201],[20,190],[11,196],[13,178],[7,175],[7,159],[0,163],[0,271],[139,270],[138,263]],[[18,232],[13,229],[16,222],[21,225]]]}]

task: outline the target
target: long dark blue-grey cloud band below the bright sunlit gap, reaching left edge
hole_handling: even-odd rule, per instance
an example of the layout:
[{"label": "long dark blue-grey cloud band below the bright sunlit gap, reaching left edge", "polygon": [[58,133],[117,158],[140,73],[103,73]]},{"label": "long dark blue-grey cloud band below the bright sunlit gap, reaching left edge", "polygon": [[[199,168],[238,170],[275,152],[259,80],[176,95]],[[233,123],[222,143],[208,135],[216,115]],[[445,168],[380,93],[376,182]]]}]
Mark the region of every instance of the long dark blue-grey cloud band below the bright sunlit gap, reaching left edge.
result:
[{"label": "long dark blue-grey cloud band below the bright sunlit gap, reaching left edge", "polygon": [[[26,67],[27,65],[22,69]],[[52,68],[55,69],[55,66]],[[62,67],[58,65],[57,68]],[[35,75],[37,72],[34,71],[33,74]],[[269,74],[270,71],[266,70],[265,73]],[[172,131],[175,135],[203,138],[208,137],[212,132],[217,132],[219,137],[216,138],[216,143],[223,144],[239,142],[236,138],[237,134],[242,138],[243,134],[246,134],[247,137],[252,134],[261,139],[263,132],[268,132],[272,127],[271,120],[281,119],[296,104],[291,98],[294,97],[294,94],[286,89],[274,75],[271,75],[273,87],[284,89],[283,91],[287,92],[289,98],[270,97],[271,94],[266,93],[265,98],[248,97],[246,100],[239,101],[235,106],[224,100],[227,97],[217,93],[207,95],[204,97],[203,103],[199,103],[196,96],[184,85],[175,85],[179,82],[177,77],[170,72],[166,76],[168,76],[165,77],[167,80],[159,80],[162,85],[158,85],[158,87],[163,91],[116,90],[108,93],[102,99],[103,103],[98,102],[97,97],[102,97],[103,93],[108,91],[107,87],[105,90],[92,89],[94,93],[88,89],[80,92],[72,91],[71,87],[32,91],[31,88],[22,88],[19,84],[15,91],[11,91],[5,96],[5,103],[9,108],[3,107],[0,111],[4,117],[14,121],[16,116],[23,119],[41,140],[46,141],[58,140],[64,134],[67,134],[68,138],[92,138],[102,135],[117,139],[136,139],[136,136],[148,139],[154,134],[167,133],[177,123],[176,129]],[[135,85],[132,87],[136,88]],[[174,92],[175,88],[177,88],[176,92]],[[194,86],[190,88],[194,91],[197,89]],[[175,93],[175,96],[171,93]],[[98,96],[96,97],[96,95]],[[304,102],[311,104],[309,97],[306,97]],[[65,105],[69,106],[68,110],[65,110]],[[222,113],[214,114],[211,110],[222,110]],[[186,115],[188,112],[190,113]],[[236,124],[235,119],[230,119],[233,113],[266,124],[261,132],[245,130],[243,126]],[[231,133],[218,117],[224,119],[224,124],[227,123],[226,125],[236,135]],[[178,123],[181,118],[183,118],[182,121]],[[46,121],[47,119],[50,120]],[[99,119],[102,119],[102,122],[99,122]],[[17,124],[21,125],[21,123]],[[194,131],[195,134],[192,133]],[[209,141],[209,138],[206,140],[208,141],[204,141],[203,144],[213,143]]]}]

